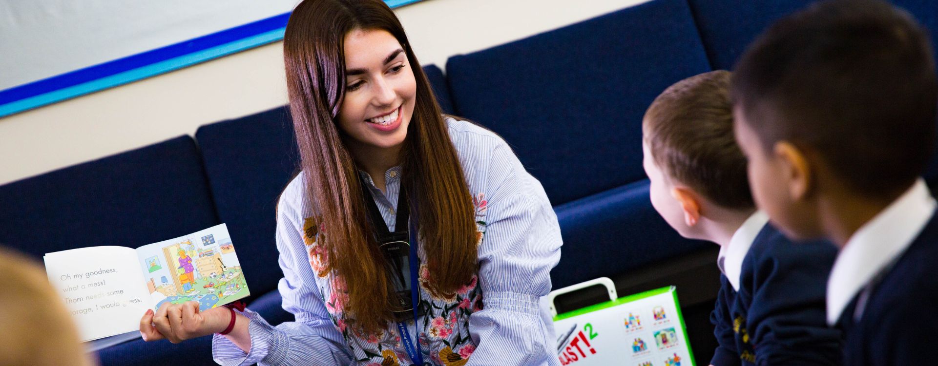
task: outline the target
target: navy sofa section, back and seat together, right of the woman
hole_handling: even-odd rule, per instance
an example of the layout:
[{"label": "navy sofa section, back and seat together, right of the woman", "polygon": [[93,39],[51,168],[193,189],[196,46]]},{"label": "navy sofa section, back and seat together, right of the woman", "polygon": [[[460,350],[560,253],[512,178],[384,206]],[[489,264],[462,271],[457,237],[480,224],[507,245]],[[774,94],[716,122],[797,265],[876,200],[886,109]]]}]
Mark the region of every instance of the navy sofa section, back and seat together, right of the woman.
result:
[{"label": "navy sofa section, back and seat together, right of the woman", "polygon": [[709,70],[684,0],[629,7],[446,63],[456,111],[504,137],[555,206],[565,246],[553,285],[713,246],[680,239],[641,183],[644,111],[674,81]]}]

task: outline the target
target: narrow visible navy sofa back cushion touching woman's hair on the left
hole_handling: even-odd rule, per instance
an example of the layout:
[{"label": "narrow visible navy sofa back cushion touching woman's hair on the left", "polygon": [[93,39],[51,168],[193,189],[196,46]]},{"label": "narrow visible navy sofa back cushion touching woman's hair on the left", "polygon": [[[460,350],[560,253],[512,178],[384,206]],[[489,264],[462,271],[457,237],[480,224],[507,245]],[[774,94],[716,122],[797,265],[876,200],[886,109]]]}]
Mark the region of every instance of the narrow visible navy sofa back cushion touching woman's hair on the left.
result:
[{"label": "narrow visible navy sofa back cushion touching woman's hair on the left", "polygon": [[207,124],[195,133],[219,220],[228,226],[252,295],[277,288],[275,210],[299,166],[286,107]]}]

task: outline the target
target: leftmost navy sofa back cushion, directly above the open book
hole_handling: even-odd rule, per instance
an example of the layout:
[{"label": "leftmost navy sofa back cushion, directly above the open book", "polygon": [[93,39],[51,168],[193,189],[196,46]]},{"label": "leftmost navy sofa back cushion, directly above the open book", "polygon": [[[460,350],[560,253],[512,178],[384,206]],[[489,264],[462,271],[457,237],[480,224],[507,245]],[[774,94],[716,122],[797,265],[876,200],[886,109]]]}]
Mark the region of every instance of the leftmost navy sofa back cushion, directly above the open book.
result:
[{"label": "leftmost navy sofa back cushion, directly above the open book", "polygon": [[219,224],[188,136],[0,186],[0,242],[42,255],[139,247]]}]

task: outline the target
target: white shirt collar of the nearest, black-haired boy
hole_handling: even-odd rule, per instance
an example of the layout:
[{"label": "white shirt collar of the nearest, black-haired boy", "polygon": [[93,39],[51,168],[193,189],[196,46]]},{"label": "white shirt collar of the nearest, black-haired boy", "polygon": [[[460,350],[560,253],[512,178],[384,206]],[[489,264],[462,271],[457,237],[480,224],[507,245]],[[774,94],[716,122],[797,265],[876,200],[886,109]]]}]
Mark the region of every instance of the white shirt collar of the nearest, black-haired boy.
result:
[{"label": "white shirt collar of the nearest, black-haired boy", "polygon": [[860,227],[840,249],[827,280],[827,324],[834,325],[856,293],[905,252],[935,210],[925,181]]}]

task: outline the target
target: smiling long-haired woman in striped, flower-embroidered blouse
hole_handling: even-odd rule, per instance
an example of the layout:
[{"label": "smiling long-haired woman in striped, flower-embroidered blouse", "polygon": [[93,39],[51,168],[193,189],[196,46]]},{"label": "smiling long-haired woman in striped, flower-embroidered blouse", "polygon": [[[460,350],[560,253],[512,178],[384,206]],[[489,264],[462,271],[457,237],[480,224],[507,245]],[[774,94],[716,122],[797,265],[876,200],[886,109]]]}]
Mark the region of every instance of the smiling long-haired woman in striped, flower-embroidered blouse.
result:
[{"label": "smiling long-haired woman in striped, flower-embroidered blouse", "polygon": [[390,8],[306,0],[283,50],[302,171],[277,245],[296,321],[168,305],[144,338],[219,332],[233,365],[558,364],[550,201],[503,139],[441,113]]}]

